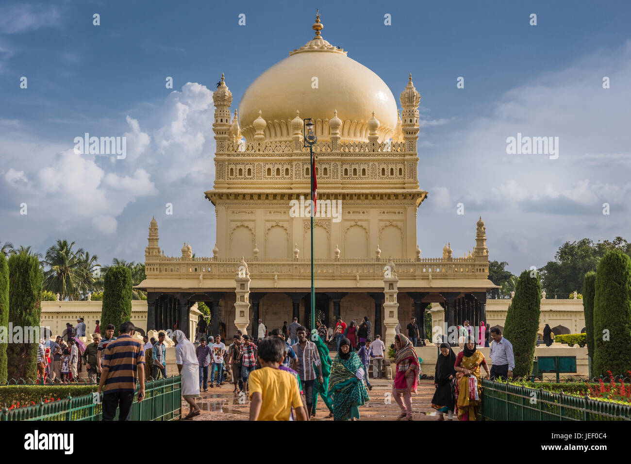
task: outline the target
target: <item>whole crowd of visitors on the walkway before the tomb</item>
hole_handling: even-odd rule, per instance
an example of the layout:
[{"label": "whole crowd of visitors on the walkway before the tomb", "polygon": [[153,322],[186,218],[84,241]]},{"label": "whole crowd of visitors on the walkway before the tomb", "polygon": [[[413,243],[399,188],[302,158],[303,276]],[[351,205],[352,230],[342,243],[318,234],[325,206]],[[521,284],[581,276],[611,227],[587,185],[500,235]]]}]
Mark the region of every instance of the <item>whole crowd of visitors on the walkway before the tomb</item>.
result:
[{"label": "whole crowd of visitors on the walkway before the tomb", "polygon": [[[106,420],[114,417],[116,407],[121,408],[121,417],[129,415],[137,379],[142,378],[144,392],[144,380],[167,377],[167,334],[164,331],[157,334],[158,340],[144,336],[143,342],[139,342],[135,338],[127,340],[136,330],[133,324],[122,324],[118,337],[114,336],[114,329],[108,324],[101,335],[97,321],[93,342],[85,346],[78,335],[85,334],[85,323],[78,319],[76,327],[68,324],[62,335],[48,343],[40,340],[38,347],[38,377],[52,382],[74,382],[81,366],[85,366],[87,378],[98,383],[99,390],[116,393],[107,398],[110,419]],[[401,410],[398,420],[413,420],[412,395],[416,393],[421,374],[420,359],[414,349],[420,336],[415,318],[411,318],[407,330],[410,336],[397,333],[391,345],[394,349],[391,395]],[[437,410],[439,420],[476,420],[482,400],[482,370],[486,379],[510,378],[514,368],[512,345],[502,336],[500,328],[488,328],[482,323],[479,331],[474,332],[468,321],[464,321],[464,326],[458,330],[462,349],[456,355],[448,343],[442,343],[435,366],[432,407]],[[491,369],[478,349],[488,345],[485,343],[487,334],[493,340]],[[182,396],[190,405],[185,419],[201,413],[195,402],[201,391],[221,388],[230,379],[233,392],[243,393],[251,400],[251,420],[309,420],[315,416],[318,399],[329,411],[327,419],[358,420],[359,408],[370,400],[371,361],[373,380],[383,376],[386,346],[380,335],[372,338],[372,324],[367,317],[360,324],[350,321],[348,325],[338,318],[332,328],[327,328],[324,321],[317,321],[311,333],[297,318],[290,324],[285,321],[283,328],[268,333],[259,319],[256,342],[237,330],[228,347],[221,334],[204,335],[205,330],[198,332],[198,343],[192,343],[183,331],[173,333]],[[329,344],[337,348],[333,356]],[[112,369],[121,364],[119,358],[127,360],[124,369]],[[121,376],[119,370],[124,372],[128,368],[133,370],[133,388],[129,376],[117,380]],[[122,384],[117,385],[118,382]],[[105,417],[105,396],[103,398]]]}]

